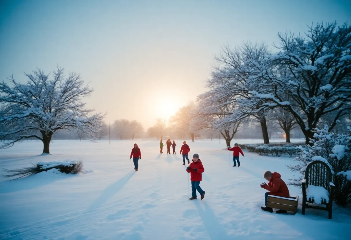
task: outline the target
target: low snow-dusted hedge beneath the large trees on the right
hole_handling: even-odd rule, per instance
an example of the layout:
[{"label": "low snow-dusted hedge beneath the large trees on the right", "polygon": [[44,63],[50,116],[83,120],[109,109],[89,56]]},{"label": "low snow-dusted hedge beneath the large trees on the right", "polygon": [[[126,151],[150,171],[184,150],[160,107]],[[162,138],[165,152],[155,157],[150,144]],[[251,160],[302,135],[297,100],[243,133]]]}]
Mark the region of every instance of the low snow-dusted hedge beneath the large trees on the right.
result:
[{"label": "low snow-dusted hedge beneath the large trees on the right", "polygon": [[296,155],[299,151],[298,146],[300,144],[286,144],[286,143],[276,143],[276,144],[244,144],[240,145],[242,149],[247,149],[249,152],[255,152],[259,155],[272,155],[281,156],[286,155]]}]

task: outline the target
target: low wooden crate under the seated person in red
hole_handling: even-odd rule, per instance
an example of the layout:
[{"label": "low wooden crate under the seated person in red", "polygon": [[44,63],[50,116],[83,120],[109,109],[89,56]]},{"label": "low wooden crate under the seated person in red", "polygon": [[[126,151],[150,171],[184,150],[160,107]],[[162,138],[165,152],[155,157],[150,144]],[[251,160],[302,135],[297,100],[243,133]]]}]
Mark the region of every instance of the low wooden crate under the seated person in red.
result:
[{"label": "low wooden crate under the seated person in red", "polygon": [[297,206],[299,205],[299,196],[283,198],[280,196],[268,195],[267,207],[277,208],[289,212],[297,213]]}]

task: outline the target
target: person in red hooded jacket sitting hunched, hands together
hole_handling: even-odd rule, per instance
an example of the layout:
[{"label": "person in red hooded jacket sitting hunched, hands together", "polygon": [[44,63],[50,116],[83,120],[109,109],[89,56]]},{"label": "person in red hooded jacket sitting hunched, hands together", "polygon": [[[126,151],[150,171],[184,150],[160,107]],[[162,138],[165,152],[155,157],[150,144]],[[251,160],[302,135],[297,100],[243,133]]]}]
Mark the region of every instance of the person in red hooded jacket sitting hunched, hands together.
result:
[{"label": "person in red hooded jacket sitting hunched, hands together", "polygon": [[[266,171],[263,176],[267,181],[269,181],[268,184],[262,183],[260,185],[261,188],[264,188],[269,191],[264,194],[266,206],[267,206],[268,195],[289,198],[290,196],[289,189],[287,188],[285,182],[280,178],[281,175],[279,173],[276,173],[276,172],[272,173],[270,171]],[[268,211],[271,213],[273,212],[273,209],[271,207],[261,207],[261,209],[263,211]],[[278,210],[276,213],[286,213],[286,211]]]}]

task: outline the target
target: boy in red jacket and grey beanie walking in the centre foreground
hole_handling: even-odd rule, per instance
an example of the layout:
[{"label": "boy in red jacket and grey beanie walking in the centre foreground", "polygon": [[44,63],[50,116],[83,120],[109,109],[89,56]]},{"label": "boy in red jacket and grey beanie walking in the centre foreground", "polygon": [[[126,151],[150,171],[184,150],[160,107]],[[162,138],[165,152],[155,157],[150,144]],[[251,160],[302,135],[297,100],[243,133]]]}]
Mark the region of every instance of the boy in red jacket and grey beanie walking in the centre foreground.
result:
[{"label": "boy in red jacket and grey beanie walking in the centre foreground", "polygon": [[197,199],[196,198],[196,190],[201,195],[201,200],[205,197],[205,191],[201,189],[200,182],[202,180],[202,173],[205,171],[204,166],[202,165],[201,160],[199,159],[199,154],[195,153],[193,155],[193,162],[186,168],[186,171],[190,173],[191,180],[191,189],[192,189],[192,197],[190,200]]}]

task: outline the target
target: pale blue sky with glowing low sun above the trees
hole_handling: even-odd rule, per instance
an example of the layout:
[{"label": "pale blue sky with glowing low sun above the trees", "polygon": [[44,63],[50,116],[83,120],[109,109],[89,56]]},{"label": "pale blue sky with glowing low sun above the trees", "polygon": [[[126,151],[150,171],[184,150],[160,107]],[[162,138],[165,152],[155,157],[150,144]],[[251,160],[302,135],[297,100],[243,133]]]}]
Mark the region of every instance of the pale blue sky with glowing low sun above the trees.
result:
[{"label": "pale blue sky with glowing low sun above the trees", "polygon": [[0,0],[0,80],[37,67],[78,72],[87,106],[144,127],[205,89],[213,55],[312,22],[351,23],[351,1]]}]

